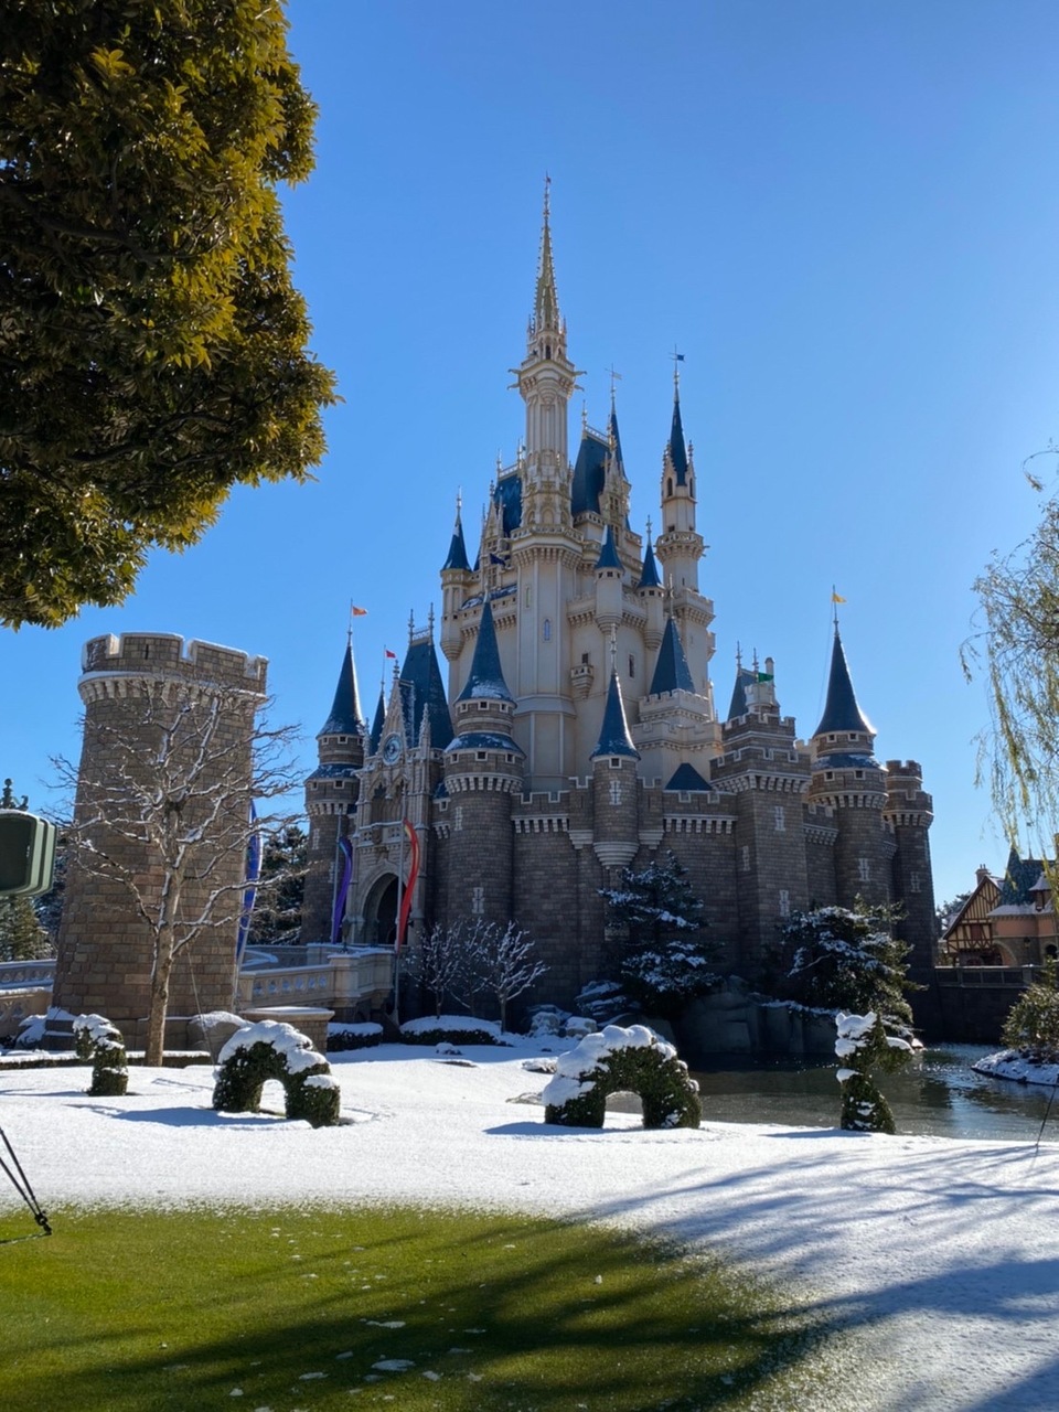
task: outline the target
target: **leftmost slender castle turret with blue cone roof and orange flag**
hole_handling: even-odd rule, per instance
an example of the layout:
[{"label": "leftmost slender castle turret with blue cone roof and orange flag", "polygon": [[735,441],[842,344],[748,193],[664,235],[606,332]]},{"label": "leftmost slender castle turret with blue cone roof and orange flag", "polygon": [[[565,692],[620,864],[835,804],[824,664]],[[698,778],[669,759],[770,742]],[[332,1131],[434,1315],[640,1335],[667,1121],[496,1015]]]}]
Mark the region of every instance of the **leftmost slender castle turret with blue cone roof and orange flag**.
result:
[{"label": "leftmost slender castle turret with blue cone roof and orange flag", "polygon": [[309,857],[302,902],[302,940],[335,942],[336,888],[346,871],[339,840],[349,839],[364,764],[367,729],[360,716],[353,638],[342,657],[335,700],[316,733],[319,764],[305,781]]}]

